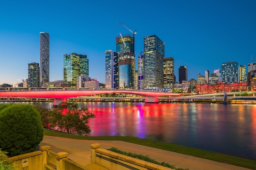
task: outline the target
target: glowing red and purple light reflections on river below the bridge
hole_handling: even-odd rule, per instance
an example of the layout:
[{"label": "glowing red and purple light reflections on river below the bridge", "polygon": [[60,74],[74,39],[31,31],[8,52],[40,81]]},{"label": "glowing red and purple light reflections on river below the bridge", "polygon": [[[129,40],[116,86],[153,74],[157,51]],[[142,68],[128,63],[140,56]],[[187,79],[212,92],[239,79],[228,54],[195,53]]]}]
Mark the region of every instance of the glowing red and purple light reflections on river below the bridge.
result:
[{"label": "glowing red and purple light reflections on river below the bridge", "polygon": [[[177,104],[144,104],[137,105],[119,105],[118,103],[109,103],[104,107],[94,107],[98,105],[90,103],[88,110],[96,115],[96,118],[90,120],[89,126],[92,130],[89,136],[137,136],[146,138],[146,135],[159,136],[163,132],[169,134],[177,132],[177,124],[173,118],[177,117],[173,107]],[[161,107],[159,107],[161,105]],[[177,108],[175,108],[177,109]],[[173,111],[172,111],[173,110]],[[165,119],[168,119],[167,121]],[[171,123],[173,129],[166,129]],[[160,137],[161,138],[161,137]]]}]

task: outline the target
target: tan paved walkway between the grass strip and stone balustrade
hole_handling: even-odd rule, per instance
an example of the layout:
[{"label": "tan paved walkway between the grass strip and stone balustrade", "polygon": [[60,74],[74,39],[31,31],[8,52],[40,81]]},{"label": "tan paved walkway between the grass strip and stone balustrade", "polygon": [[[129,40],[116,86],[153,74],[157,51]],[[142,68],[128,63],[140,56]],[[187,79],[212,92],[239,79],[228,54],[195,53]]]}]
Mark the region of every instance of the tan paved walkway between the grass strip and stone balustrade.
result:
[{"label": "tan paved walkway between the grass strip and stone balustrade", "polygon": [[189,170],[249,170],[227,163],[220,163],[208,159],[188,156],[171,151],[141,146],[123,141],[105,141],[105,140],[79,140],[63,137],[44,136],[40,146],[49,145],[51,151],[67,152],[68,158],[83,166],[91,163],[90,144],[101,144],[101,148],[108,149],[111,147],[118,148],[126,152],[148,155],[150,158],[158,162],[166,162],[170,165],[175,165],[176,168],[188,168]]}]

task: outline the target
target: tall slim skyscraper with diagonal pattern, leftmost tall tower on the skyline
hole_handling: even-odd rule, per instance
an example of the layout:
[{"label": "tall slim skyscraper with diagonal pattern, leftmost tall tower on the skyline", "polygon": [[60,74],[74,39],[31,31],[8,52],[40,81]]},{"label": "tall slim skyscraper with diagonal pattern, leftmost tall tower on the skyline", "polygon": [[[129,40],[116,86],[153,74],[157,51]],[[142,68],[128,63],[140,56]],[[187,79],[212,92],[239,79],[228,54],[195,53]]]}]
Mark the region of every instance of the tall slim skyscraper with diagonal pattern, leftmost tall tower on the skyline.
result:
[{"label": "tall slim skyscraper with diagonal pattern, leftmost tall tower on the skyline", "polygon": [[40,86],[43,82],[49,82],[49,61],[50,61],[50,35],[40,33]]}]

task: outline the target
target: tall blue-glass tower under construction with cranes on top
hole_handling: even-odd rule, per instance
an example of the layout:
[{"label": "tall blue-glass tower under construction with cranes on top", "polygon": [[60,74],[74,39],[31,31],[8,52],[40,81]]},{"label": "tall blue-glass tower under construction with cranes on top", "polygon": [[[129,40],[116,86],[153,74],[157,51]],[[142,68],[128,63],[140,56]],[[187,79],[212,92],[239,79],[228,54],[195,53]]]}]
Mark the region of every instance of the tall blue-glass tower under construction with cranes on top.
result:
[{"label": "tall blue-glass tower under construction with cranes on top", "polygon": [[[124,40],[124,41],[123,41]],[[119,52],[119,89],[135,88],[135,54],[133,48],[133,40],[130,35],[124,35],[116,38],[116,50]]]}]

